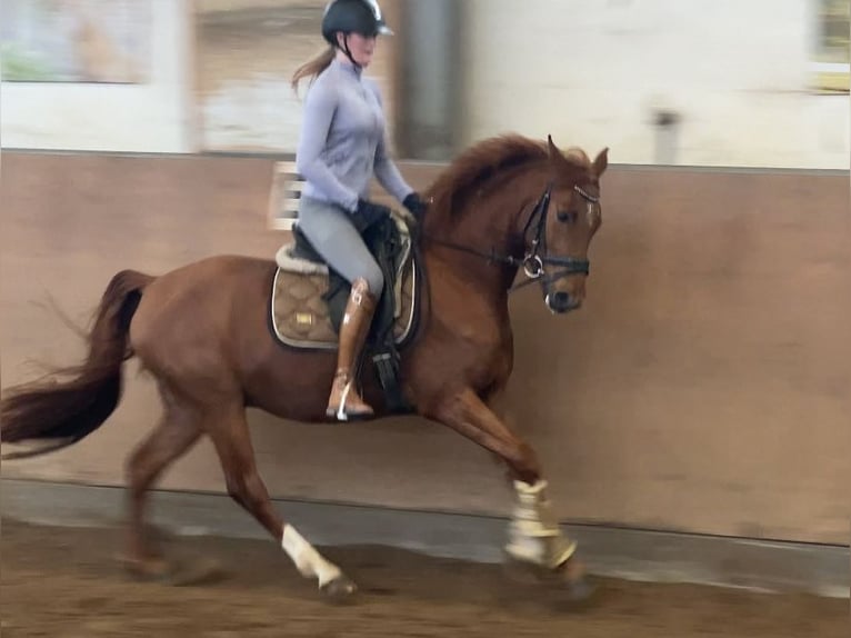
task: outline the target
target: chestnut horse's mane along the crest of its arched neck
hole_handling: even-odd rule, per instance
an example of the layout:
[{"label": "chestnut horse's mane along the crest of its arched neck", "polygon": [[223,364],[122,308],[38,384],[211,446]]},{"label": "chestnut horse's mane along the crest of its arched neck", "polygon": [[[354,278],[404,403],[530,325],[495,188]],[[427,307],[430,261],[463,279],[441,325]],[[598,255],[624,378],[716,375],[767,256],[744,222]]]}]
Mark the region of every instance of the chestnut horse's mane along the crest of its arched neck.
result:
[{"label": "chestnut horse's mane along the crest of its arched neck", "polygon": [[454,216],[477,187],[500,171],[529,161],[547,159],[547,144],[519,134],[504,134],[483,140],[463,153],[434,180],[428,189],[430,209]]}]

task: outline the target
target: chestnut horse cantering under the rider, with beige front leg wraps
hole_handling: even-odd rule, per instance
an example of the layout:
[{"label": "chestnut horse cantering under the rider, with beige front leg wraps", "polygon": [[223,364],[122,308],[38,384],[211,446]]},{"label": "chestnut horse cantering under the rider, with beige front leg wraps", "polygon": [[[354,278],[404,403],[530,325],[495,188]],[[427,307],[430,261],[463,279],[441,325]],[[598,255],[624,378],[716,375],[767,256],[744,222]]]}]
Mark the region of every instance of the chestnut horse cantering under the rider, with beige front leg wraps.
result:
[{"label": "chestnut horse cantering under the rider, with beige front leg wraps", "polygon": [[[515,490],[508,541],[512,564],[555,578],[570,599],[595,589],[560,529],[532,447],[497,408],[512,370],[509,292],[540,285],[554,315],[585,297],[588,250],[602,222],[600,178],[608,148],[591,161],[552,137],[503,134],[461,152],[423,191],[427,215],[412,229],[427,282],[416,337],[400,348],[400,377],[412,411],[442,423],[504,462]],[[553,212],[554,211],[554,212]],[[0,402],[3,443],[37,442],[20,456],[73,445],[116,409],[123,363],[136,357],[157,383],[162,416],[126,461],[124,566],[154,578],[170,566],[146,526],[148,490],[166,468],[209,436],[230,497],[269,532],[319,591],[346,598],[357,586],[272,507],[258,472],[249,407],[301,422],[327,420],[336,352],[284,347],[268,325],[277,265],[219,255],[160,276],[117,272],[88,332],[88,355],[52,377],[11,388]],[[363,375],[374,418],[392,413]],[[2,458],[14,458],[4,453]]]}]

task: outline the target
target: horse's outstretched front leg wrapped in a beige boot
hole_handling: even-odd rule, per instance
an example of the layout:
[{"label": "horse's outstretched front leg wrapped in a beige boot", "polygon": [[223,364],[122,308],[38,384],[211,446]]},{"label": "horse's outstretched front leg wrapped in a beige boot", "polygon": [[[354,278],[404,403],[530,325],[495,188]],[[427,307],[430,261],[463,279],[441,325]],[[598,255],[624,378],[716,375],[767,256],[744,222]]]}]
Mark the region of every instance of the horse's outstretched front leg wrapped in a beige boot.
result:
[{"label": "horse's outstretched front leg wrapped in a beige boot", "polygon": [[565,537],[547,497],[541,463],[529,445],[515,436],[467,388],[440,401],[428,415],[500,456],[513,478],[517,501],[509,524],[505,551],[513,559],[564,577],[572,598],[587,598],[584,568],[575,558],[575,541]]}]

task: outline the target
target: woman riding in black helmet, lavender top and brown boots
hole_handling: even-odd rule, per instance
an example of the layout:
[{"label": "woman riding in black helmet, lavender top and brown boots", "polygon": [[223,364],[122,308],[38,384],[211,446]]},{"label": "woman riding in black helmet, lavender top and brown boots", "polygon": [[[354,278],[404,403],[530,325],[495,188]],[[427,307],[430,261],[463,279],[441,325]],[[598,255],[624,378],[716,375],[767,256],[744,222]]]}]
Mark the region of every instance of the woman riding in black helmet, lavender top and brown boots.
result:
[{"label": "woman riding in black helmet, lavender top and brown boots", "polygon": [[426,205],[388,156],[386,121],[378,86],[363,78],[380,33],[392,34],[374,0],[332,0],[322,18],[330,44],[299,68],[299,81],[312,77],[296,165],[306,180],[299,203],[299,229],[328,265],[351,283],[340,325],[337,372],[326,413],[338,420],[368,417],[354,368],[369,333],[383,275],[361,238],[377,219],[390,215],[369,201],[374,175],[381,186],[421,218]]}]

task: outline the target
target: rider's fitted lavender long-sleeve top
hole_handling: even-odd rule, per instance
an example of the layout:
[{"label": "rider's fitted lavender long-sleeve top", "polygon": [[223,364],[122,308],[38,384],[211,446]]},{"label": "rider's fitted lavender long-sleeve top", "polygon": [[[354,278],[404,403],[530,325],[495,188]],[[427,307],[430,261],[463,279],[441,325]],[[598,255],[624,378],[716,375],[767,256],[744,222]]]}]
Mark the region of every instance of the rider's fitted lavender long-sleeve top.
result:
[{"label": "rider's fitted lavender long-sleeve top", "polygon": [[302,195],[349,211],[368,196],[373,175],[399,201],[413,191],[387,154],[378,84],[361,74],[362,69],[337,59],[319,74],[306,98],[296,154],[307,181]]}]

